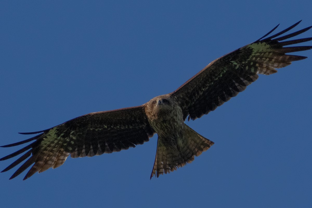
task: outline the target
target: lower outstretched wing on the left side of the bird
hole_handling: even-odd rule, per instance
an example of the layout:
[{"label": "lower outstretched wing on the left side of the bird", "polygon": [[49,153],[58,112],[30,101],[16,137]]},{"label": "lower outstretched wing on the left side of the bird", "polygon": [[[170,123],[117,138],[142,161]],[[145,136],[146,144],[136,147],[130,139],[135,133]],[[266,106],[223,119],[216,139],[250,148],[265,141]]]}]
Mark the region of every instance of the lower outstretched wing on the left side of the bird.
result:
[{"label": "lower outstretched wing on the left side of the bird", "polygon": [[2,171],[10,170],[31,156],[10,179],[18,176],[33,163],[35,164],[23,180],[36,172],[40,173],[50,167],[61,166],[69,154],[73,158],[92,157],[129,149],[129,147],[135,147],[135,145],[149,141],[155,131],[149,125],[144,108],[137,106],[90,113],[43,131],[22,134],[35,133],[41,134],[21,142],[2,146],[12,147],[36,140],[17,152],[0,159],[0,161],[6,160],[28,150]]}]

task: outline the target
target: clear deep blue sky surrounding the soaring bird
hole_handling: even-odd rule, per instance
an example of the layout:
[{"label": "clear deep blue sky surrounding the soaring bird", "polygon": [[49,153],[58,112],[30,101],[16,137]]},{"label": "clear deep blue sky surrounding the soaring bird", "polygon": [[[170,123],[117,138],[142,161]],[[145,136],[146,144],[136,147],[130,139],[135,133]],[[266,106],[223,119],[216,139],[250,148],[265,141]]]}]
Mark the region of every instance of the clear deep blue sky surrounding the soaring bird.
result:
[{"label": "clear deep blue sky surrounding the soaring bird", "polygon": [[[172,92],[278,23],[277,31],[312,25],[311,1],[255,2],[1,1],[0,145]],[[1,173],[1,207],[311,206],[312,51],[296,54],[309,58],[187,122],[215,145],[186,167],[149,180],[155,135],[26,181],[26,172],[8,180],[16,168]]]}]

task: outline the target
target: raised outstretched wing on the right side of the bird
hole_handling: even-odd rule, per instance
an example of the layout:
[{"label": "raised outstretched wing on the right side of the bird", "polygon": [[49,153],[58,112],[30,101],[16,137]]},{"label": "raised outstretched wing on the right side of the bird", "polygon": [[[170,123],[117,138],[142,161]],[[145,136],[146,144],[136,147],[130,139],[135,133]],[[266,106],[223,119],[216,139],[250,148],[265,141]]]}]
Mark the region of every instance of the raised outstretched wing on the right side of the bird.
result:
[{"label": "raised outstretched wing on the right side of the bird", "polygon": [[286,55],[285,53],[309,50],[312,46],[283,46],[311,41],[312,37],[291,41],[283,40],[299,35],[312,26],[275,38],[289,31],[300,22],[265,38],[278,27],[277,25],[259,40],[212,61],[203,70],[172,92],[171,96],[178,100],[183,110],[184,119],[188,116],[188,120],[194,120],[215,110],[218,106],[246,89],[247,85],[250,85],[258,78],[257,74],[270,75],[277,72],[275,68],[285,67],[290,65],[291,61],[307,58],[305,56]]}]

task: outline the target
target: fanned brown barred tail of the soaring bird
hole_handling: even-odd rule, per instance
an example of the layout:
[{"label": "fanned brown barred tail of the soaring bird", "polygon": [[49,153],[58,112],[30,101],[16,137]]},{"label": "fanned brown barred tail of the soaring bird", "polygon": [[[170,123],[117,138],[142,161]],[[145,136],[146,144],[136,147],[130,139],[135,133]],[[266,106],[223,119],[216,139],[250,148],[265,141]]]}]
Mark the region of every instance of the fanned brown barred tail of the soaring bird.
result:
[{"label": "fanned brown barred tail of the soaring bird", "polygon": [[183,167],[194,160],[194,156],[199,156],[209,149],[214,142],[204,138],[184,123],[182,144],[168,143],[158,136],[157,151],[154,162],[152,178],[154,175],[166,174]]}]

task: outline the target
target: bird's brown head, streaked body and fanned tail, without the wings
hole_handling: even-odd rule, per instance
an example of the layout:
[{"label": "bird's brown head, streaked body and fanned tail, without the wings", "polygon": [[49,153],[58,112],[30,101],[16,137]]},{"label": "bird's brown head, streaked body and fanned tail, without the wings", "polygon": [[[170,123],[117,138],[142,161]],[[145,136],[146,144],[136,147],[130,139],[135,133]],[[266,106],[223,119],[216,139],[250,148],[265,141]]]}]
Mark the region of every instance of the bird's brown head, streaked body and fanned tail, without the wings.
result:
[{"label": "bird's brown head, streaked body and fanned tail, without the wings", "polygon": [[157,96],[143,104],[149,124],[158,134],[153,175],[168,173],[192,162],[194,156],[213,145],[184,123],[182,109],[171,94]]}]

